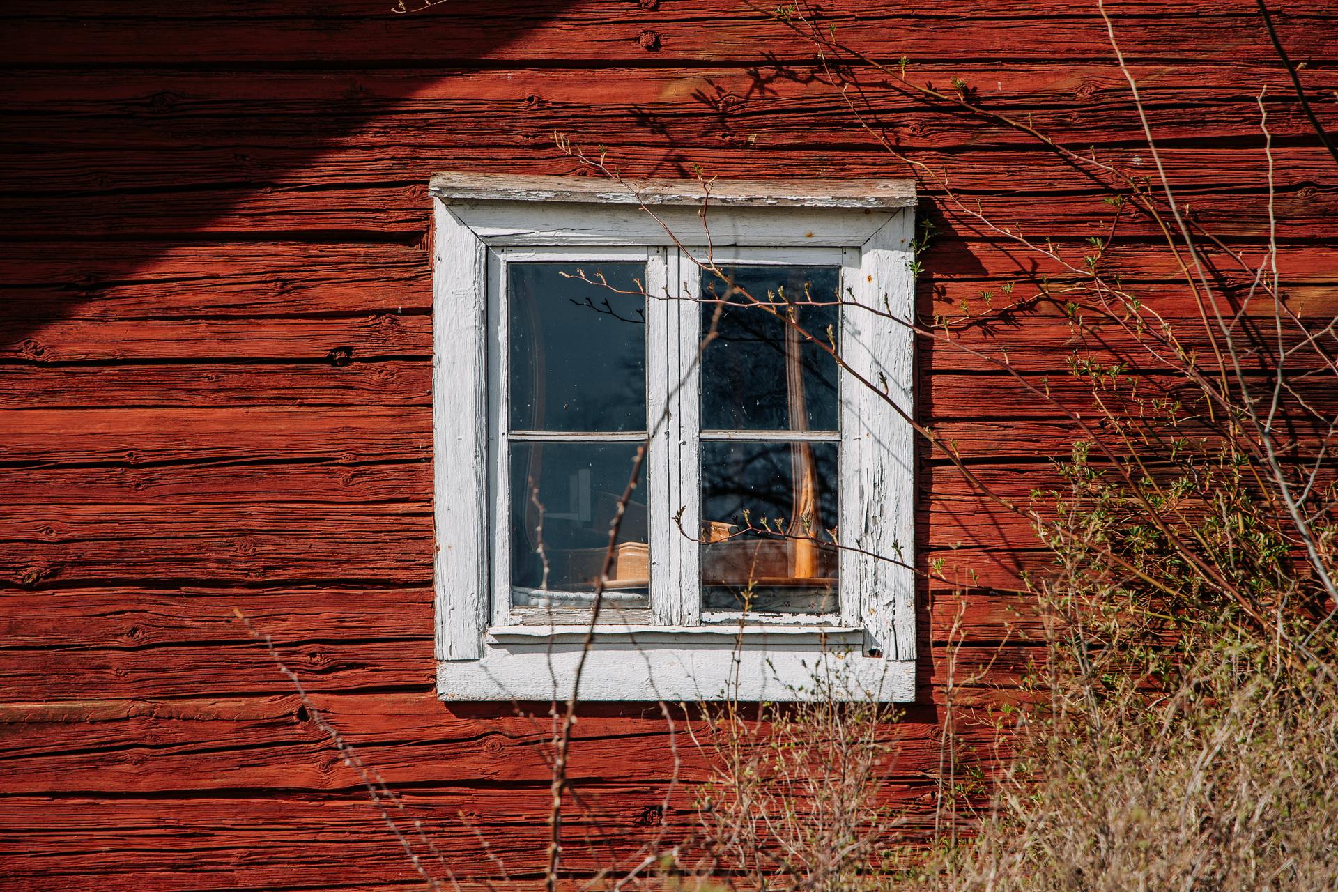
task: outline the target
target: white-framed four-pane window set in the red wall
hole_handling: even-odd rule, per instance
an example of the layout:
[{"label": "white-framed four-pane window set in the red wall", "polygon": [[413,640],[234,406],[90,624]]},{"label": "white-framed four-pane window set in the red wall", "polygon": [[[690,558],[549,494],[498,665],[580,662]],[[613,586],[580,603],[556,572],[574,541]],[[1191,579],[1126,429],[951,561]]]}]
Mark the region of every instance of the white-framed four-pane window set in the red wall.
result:
[{"label": "white-framed four-pane window set in the red wall", "polygon": [[913,186],[431,191],[439,695],[911,699]]}]

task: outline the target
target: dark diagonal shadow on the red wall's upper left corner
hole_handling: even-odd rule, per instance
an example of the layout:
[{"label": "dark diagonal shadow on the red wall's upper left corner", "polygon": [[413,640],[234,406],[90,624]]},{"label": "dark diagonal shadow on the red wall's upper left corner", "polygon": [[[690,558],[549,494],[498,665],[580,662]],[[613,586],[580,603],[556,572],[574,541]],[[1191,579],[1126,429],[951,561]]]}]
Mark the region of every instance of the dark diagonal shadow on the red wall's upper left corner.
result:
[{"label": "dark diagonal shadow on the red wall's upper left corner", "polygon": [[[407,190],[425,199],[427,174],[460,159],[440,140],[415,148],[419,119],[377,134],[371,148],[356,135],[396,126],[376,122],[434,84],[486,71],[488,56],[573,3],[405,3],[407,13],[393,0],[0,11],[0,288],[9,294],[0,345],[9,358],[52,358],[25,338],[88,314],[82,305],[132,285],[182,245],[234,246],[217,253],[222,266],[246,254],[245,242],[420,243],[425,203],[416,229],[388,231],[380,211],[392,193],[400,203]],[[450,100],[427,107],[443,127],[491,142],[478,103],[466,119]],[[326,170],[339,183],[300,175],[333,150]],[[173,312],[170,289],[161,302]]]}]

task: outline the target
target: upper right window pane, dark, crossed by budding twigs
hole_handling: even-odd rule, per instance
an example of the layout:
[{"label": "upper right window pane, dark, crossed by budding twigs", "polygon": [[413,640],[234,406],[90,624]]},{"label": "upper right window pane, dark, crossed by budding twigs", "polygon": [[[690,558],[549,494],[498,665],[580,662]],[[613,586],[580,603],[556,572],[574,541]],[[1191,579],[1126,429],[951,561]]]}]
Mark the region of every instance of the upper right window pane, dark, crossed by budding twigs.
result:
[{"label": "upper right window pane, dark, crossed by budding twigs", "polygon": [[[835,431],[836,361],[764,306],[815,338],[836,338],[835,266],[735,266],[736,289],[702,273],[701,330],[716,338],[701,357],[701,427],[706,431]],[[717,316],[719,310],[719,316]]]}]

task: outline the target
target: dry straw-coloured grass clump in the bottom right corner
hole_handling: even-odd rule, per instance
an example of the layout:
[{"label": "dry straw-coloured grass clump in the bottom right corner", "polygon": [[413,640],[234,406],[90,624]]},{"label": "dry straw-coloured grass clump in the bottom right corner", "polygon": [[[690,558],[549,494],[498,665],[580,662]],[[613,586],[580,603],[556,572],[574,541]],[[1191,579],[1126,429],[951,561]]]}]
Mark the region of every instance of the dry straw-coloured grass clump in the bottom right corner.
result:
[{"label": "dry straw-coloured grass clump in the bottom right corner", "polygon": [[1149,697],[1070,677],[942,889],[1338,888],[1338,691],[1276,677],[1247,642]]}]

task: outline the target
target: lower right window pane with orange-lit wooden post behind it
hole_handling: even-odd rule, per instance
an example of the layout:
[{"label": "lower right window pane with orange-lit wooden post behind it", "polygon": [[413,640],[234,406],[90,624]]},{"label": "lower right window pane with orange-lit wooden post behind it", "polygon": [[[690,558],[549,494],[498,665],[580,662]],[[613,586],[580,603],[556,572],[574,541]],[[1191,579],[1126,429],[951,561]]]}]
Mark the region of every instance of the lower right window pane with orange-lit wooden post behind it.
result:
[{"label": "lower right window pane with orange-lit wooden post behind it", "polygon": [[702,607],[838,611],[838,480],[835,443],[702,443]]}]

